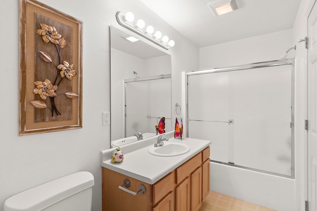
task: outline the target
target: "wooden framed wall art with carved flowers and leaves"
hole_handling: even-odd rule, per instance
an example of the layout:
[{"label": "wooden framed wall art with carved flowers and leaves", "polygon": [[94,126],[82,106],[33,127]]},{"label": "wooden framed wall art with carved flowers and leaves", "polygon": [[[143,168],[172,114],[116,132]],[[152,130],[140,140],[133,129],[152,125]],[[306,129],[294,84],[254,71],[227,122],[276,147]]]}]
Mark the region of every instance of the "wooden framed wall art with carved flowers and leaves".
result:
[{"label": "wooden framed wall art with carved flowers and leaves", "polygon": [[82,24],[20,0],[19,135],[82,127]]}]

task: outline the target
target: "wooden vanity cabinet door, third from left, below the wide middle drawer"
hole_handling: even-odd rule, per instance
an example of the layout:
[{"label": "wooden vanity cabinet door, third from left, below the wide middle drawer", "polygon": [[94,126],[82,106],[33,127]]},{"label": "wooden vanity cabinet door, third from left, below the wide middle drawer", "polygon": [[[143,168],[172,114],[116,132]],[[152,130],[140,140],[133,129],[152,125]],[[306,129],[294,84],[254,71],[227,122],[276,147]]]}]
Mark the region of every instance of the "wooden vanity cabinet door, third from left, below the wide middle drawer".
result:
[{"label": "wooden vanity cabinet door, third from left, below the wide middle drawer", "polygon": [[191,211],[198,211],[202,206],[202,167],[190,175]]}]

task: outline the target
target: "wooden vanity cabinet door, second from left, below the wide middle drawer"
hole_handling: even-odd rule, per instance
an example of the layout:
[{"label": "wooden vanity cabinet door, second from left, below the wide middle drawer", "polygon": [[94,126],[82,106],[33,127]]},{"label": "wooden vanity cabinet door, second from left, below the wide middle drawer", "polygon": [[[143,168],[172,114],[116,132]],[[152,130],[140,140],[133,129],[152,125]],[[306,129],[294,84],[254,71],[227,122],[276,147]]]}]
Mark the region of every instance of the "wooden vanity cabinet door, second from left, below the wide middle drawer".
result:
[{"label": "wooden vanity cabinet door, second from left, below the wide middle drawer", "polygon": [[175,210],[190,211],[190,183],[187,177],[175,188]]}]

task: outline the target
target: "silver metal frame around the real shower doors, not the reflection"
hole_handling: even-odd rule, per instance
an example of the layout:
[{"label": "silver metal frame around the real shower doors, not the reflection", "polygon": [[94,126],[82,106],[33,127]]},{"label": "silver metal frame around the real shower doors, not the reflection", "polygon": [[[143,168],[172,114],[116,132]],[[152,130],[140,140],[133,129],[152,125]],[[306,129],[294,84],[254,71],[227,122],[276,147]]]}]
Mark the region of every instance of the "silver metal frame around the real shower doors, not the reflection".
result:
[{"label": "silver metal frame around the real shower doors, not the reflection", "polygon": [[237,167],[241,169],[248,169],[253,171],[258,171],[262,173],[267,173],[271,175],[276,176],[282,176],[286,178],[295,178],[295,128],[294,128],[294,111],[295,111],[295,100],[294,100],[294,93],[295,93],[295,58],[290,59],[281,59],[281,60],[273,60],[273,61],[264,61],[264,62],[258,62],[258,63],[250,63],[245,65],[238,65],[238,66],[231,66],[231,67],[224,67],[224,68],[212,68],[212,69],[206,69],[206,70],[197,70],[197,71],[191,71],[191,72],[182,72],[182,87],[183,87],[183,93],[182,93],[182,104],[185,106],[185,120],[183,121],[184,126],[184,133],[188,137],[188,122],[190,121],[188,117],[188,77],[193,75],[202,75],[202,74],[210,74],[210,73],[219,73],[219,72],[229,72],[229,71],[237,71],[237,70],[248,70],[248,69],[255,69],[255,68],[263,68],[263,67],[273,67],[273,66],[280,66],[280,65],[291,65],[291,175],[287,174],[281,174],[276,173],[272,171],[266,171],[262,169],[254,169],[250,167],[244,167],[235,165],[232,163],[224,163],[219,161],[213,161],[212,163],[219,163],[227,166]]}]

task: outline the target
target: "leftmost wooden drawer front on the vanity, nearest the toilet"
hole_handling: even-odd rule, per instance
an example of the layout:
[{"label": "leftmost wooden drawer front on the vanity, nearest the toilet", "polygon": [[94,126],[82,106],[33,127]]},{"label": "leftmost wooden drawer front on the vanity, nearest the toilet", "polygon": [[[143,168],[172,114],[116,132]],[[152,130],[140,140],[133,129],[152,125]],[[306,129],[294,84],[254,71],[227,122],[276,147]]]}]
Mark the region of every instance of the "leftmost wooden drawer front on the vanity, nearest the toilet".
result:
[{"label": "leftmost wooden drawer front on the vanity, nearest the toilet", "polygon": [[153,185],[153,204],[158,203],[166,194],[174,190],[174,177],[175,173],[172,171]]}]

